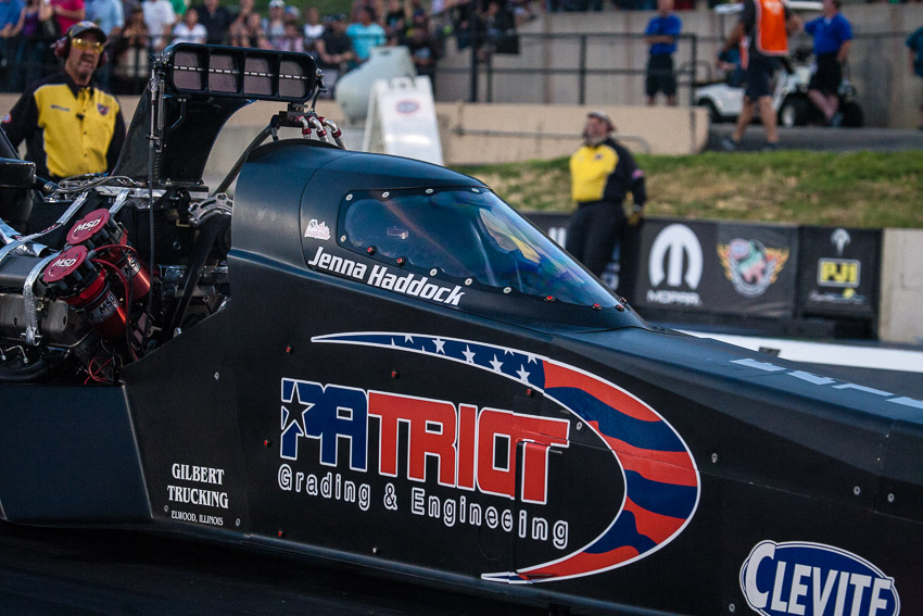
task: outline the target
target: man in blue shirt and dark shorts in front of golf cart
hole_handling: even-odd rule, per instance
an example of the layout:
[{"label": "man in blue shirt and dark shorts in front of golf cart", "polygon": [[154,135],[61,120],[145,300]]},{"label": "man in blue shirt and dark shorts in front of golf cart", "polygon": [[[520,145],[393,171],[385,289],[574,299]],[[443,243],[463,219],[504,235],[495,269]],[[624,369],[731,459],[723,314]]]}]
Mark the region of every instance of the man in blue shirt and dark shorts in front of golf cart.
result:
[{"label": "man in blue shirt and dark shorts in front of golf cart", "polygon": [[823,14],[805,24],[805,32],[814,37],[814,58],[818,70],[808,85],[808,98],[824,114],[826,123],[839,126],[839,83],[843,63],[852,45],[852,25],[839,12],[839,0],[823,0]]}]

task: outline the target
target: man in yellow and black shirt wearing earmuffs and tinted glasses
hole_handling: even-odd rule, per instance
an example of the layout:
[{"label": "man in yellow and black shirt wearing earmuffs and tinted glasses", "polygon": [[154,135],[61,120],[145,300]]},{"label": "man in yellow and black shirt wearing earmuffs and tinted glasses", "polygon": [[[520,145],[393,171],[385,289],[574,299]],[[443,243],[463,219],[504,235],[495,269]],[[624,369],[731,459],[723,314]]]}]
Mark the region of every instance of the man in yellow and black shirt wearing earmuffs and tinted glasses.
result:
[{"label": "man in yellow and black shirt wearing earmuffs and tinted glasses", "polygon": [[26,140],[26,160],[36,174],[53,180],[111,169],[125,142],[118,101],[91,85],[106,61],[105,34],[92,22],[71,26],[54,43],[64,68],[39,79],[3,118],[14,147]]}]

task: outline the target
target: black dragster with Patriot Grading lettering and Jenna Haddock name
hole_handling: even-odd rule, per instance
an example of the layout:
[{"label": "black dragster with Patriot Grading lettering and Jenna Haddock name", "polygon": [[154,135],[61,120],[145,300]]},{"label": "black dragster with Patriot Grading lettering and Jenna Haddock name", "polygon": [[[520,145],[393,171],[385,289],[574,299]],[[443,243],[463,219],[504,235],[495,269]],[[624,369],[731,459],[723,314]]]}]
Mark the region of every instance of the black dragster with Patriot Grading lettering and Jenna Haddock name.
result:
[{"label": "black dragster with Patriot Grading lettering and Jenna Haddock name", "polygon": [[222,118],[313,63],[177,46],[154,81],[105,181],[4,163],[0,517],[577,611],[923,613],[923,402],[652,327],[442,167],[278,140],[197,197]]}]

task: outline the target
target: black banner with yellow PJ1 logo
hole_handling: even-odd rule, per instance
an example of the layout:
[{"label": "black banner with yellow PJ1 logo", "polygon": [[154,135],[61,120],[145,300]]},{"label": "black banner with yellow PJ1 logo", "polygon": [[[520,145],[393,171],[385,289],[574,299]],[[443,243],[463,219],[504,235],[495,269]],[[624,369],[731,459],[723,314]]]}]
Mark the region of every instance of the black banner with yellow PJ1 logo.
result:
[{"label": "black banner with yellow PJ1 logo", "polygon": [[877,312],[882,231],[801,227],[801,314],[871,316]]}]

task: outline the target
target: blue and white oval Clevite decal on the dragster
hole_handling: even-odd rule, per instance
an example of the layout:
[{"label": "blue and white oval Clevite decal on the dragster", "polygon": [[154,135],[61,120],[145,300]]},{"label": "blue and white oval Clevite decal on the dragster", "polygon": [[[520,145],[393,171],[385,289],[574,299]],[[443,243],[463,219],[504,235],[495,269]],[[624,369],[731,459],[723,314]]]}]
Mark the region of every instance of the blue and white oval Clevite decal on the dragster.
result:
[{"label": "blue and white oval Clevite decal on the dragster", "polygon": [[832,545],[763,541],[741,567],[747,603],[763,616],[896,616],[894,579]]}]

